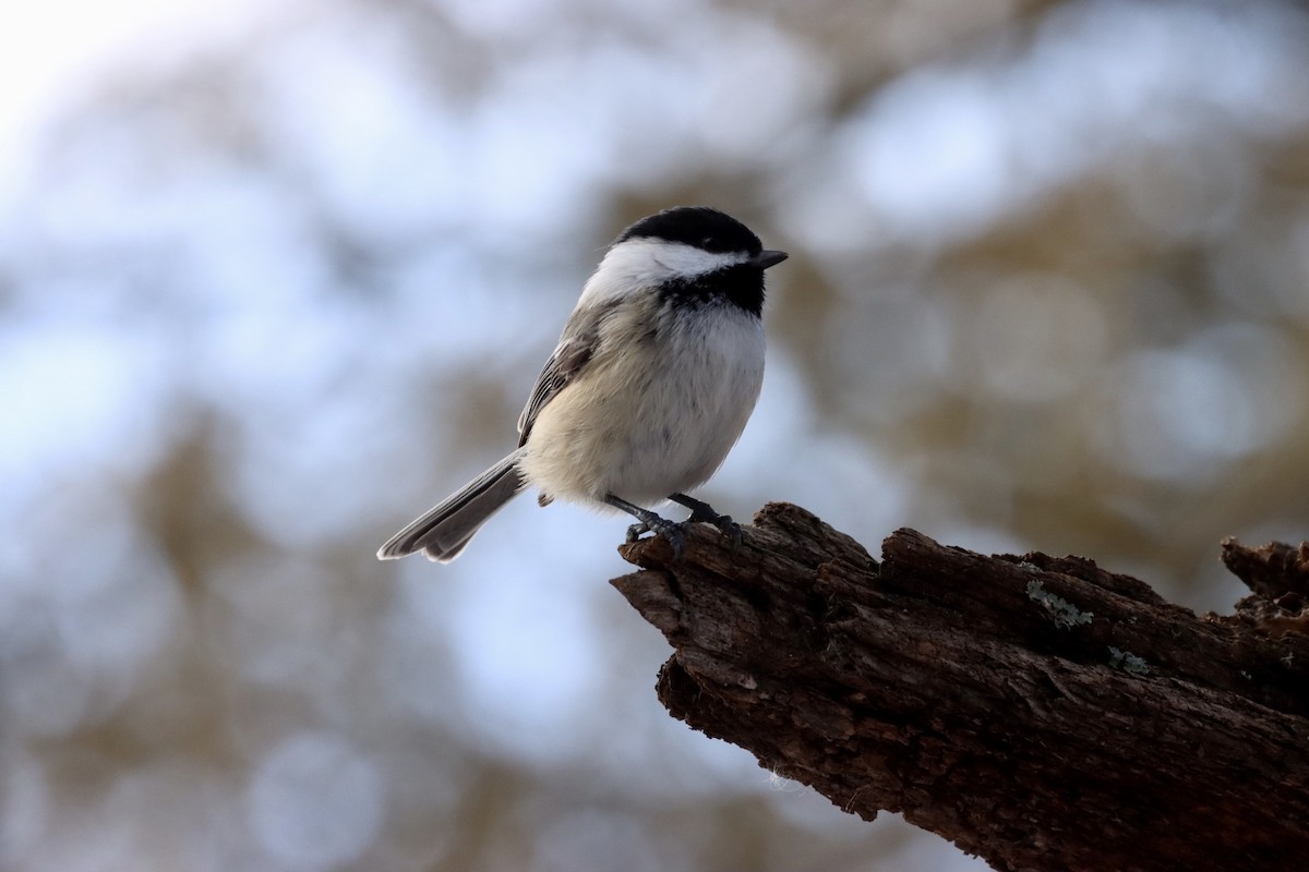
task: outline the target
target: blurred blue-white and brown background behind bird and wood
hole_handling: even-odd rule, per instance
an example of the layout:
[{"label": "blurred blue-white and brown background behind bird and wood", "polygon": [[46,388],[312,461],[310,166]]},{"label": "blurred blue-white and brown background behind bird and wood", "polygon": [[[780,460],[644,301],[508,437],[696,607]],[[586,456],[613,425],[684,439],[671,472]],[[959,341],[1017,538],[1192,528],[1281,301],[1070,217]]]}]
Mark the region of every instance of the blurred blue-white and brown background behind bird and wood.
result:
[{"label": "blurred blue-white and brown background behind bird and wood", "polygon": [[962,871],[673,720],[514,443],[628,222],[768,273],[702,493],[1198,611],[1309,518],[1309,14],[1246,0],[50,0],[0,27],[0,867]]}]

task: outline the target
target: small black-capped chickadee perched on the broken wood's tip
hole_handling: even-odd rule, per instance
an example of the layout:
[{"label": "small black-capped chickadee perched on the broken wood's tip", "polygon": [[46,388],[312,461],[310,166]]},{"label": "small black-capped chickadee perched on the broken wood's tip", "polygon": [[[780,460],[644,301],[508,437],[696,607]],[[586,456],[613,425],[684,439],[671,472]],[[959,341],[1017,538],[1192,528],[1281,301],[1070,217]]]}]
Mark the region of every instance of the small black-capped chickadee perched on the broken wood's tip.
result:
[{"label": "small black-capped chickadee perched on the broken wood's tip", "polygon": [[641,218],[583,288],[518,417],[518,448],[382,545],[449,562],[528,485],[552,499],[634,515],[681,554],[682,527],[647,506],[672,499],[740,537],[686,495],[723,464],[763,383],[763,271],[787,259],[717,209]]}]

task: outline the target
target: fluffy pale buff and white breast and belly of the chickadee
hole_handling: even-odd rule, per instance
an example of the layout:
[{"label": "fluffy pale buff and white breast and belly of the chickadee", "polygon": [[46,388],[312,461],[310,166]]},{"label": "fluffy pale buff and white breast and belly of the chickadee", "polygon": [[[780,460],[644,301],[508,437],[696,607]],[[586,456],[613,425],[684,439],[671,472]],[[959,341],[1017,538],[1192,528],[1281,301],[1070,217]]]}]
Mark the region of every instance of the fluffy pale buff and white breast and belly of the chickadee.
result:
[{"label": "fluffy pale buff and white breast and belly of the chickadee", "polygon": [[614,312],[585,371],[541,411],[524,472],[542,493],[653,505],[708,480],[740,438],[763,383],[758,316],[657,305]]}]

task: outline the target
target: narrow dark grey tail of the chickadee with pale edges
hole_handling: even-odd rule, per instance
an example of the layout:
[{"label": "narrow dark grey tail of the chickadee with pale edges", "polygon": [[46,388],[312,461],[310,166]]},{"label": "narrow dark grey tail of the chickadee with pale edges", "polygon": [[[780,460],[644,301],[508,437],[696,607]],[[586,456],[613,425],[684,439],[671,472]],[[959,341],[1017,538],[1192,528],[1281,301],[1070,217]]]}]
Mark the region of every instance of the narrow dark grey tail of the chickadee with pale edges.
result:
[{"label": "narrow dark grey tail of the chickadee with pale edges", "polygon": [[378,560],[395,560],[421,550],[428,560],[449,563],[482,524],[524,489],[526,481],[518,471],[521,459],[522,448],[423,512],[378,549]]}]

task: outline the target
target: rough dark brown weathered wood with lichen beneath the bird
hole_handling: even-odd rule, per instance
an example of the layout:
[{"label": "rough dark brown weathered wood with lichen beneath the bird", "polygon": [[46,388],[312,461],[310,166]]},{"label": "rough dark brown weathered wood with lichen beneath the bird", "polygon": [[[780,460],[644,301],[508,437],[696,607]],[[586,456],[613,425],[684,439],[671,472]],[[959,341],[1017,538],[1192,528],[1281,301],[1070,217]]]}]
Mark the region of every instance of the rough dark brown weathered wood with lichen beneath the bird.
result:
[{"label": "rough dark brown weathered wood with lichen beneath the bird", "polygon": [[766,506],[745,543],[624,545],[613,584],[674,648],[669,711],[872,820],[997,869],[1309,868],[1309,549],[1224,560],[1196,617],[1079,557],[984,557],[911,529],[881,561]]}]

